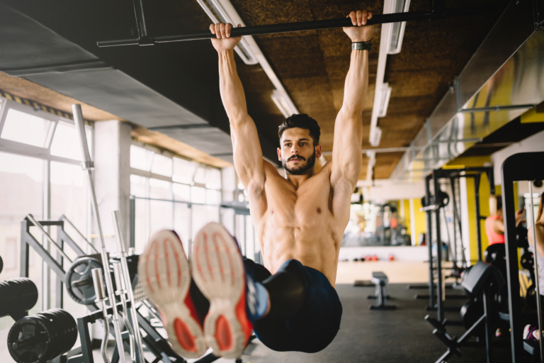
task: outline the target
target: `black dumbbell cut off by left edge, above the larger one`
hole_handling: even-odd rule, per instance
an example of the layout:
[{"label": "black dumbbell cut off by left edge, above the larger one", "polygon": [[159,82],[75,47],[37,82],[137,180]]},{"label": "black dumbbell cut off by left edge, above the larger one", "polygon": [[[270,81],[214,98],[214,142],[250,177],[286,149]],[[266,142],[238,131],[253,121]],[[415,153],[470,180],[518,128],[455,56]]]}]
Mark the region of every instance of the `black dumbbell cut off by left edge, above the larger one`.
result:
[{"label": "black dumbbell cut off by left edge, above the larger one", "polygon": [[0,282],[0,318],[19,320],[38,302],[38,288],[26,277]]}]

